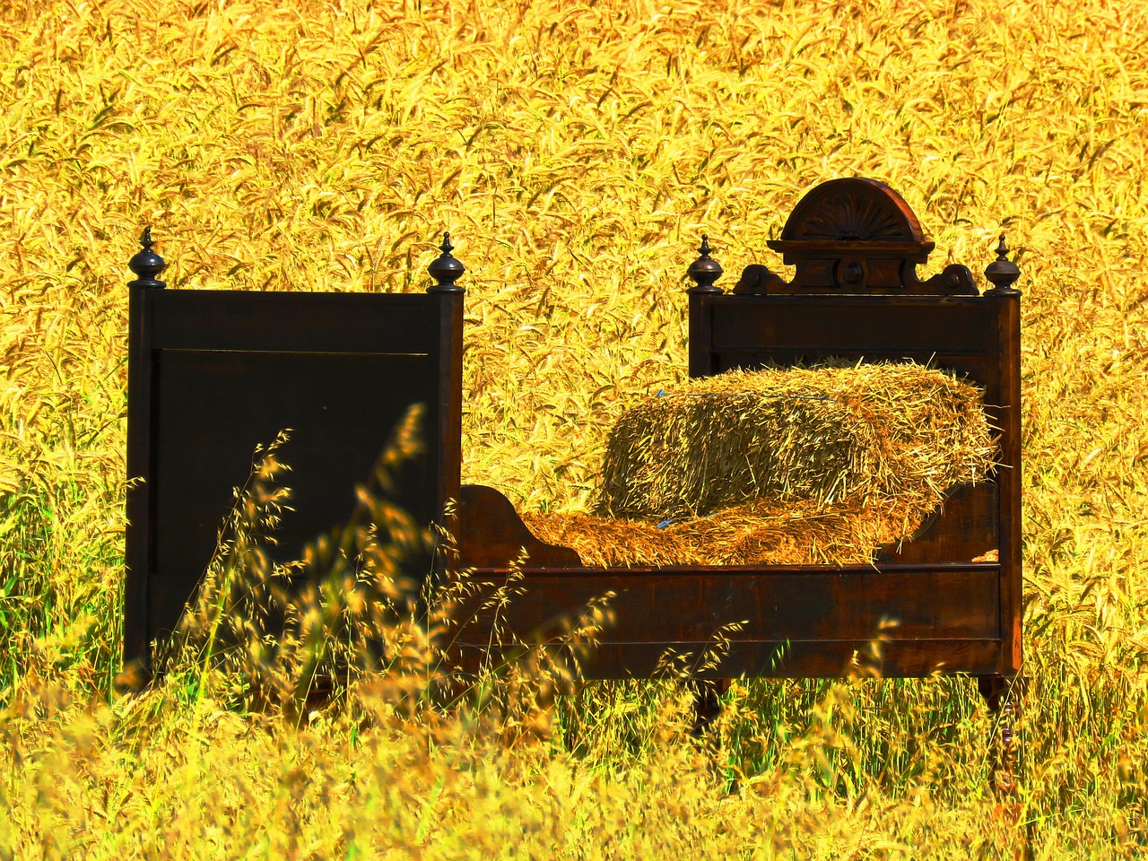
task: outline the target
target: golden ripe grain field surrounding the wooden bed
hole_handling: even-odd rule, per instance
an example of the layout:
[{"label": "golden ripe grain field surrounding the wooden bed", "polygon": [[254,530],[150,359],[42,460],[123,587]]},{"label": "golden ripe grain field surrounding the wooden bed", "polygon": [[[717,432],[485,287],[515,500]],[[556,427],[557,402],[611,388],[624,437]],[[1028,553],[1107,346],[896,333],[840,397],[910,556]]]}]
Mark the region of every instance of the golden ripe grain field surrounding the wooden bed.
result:
[{"label": "golden ripe grain field surrounding the wooden bed", "polygon": [[[0,7],[0,859],[1148,851],[1148,7],[278,6]],[[115,693],[144,225],[172,287],[253,290],[420,290],[451,231],[464,481],[577,511],[610,422],[685,374],[701,233],[728,289],[859,174],[937,241],[923,274],[1002,231],[1023,270],[1014,806],[968,678],[745,681],[716,750],[673,682],[551,705],[523,670],[442,714],[391,677],[294,719],[209,673]]]}]

